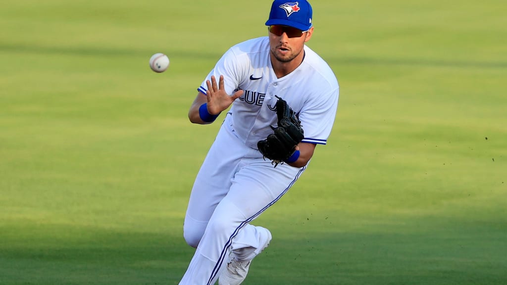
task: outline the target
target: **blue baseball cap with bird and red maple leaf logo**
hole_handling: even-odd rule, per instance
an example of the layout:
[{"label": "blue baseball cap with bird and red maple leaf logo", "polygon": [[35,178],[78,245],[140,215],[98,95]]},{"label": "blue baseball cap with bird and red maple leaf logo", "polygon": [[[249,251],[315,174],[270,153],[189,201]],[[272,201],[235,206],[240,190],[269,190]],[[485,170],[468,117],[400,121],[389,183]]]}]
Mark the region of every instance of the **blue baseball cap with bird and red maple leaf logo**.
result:
[{"label": "blue baseball cap with bird and red maple leaf logo", "polygon": [[271,5],[269,20],[266,26],[283,25],[294,27],[302,31],[312,26],[312,7],[306,0],[287,2],[287,0],[275,0]]}]

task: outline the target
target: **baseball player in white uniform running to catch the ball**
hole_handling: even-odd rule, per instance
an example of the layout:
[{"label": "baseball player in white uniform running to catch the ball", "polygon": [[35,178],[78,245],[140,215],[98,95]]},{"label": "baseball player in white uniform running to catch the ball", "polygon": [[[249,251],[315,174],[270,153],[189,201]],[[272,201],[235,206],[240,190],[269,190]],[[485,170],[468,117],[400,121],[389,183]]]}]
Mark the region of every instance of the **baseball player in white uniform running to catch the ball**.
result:
[{"label": "baseball player in white uniform running to catch the ball", "polygon": [[197,249],[179,284],[240,284],[272,237],[253,220],[294,185],[331,132],[339,86],[305,45],[310,4],[275,0],[266,25],[267,37],[222,56],[190,107],[192,123],[210,124],[232,104],[192,188],[184,238]]}]

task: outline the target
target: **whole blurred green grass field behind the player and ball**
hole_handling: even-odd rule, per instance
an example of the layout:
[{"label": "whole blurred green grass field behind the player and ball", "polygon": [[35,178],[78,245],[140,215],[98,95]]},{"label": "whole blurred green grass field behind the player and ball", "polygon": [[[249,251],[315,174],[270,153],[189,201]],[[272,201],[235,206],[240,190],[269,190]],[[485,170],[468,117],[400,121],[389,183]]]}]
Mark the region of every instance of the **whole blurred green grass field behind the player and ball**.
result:
[{"label": "whole blurred green grass field behind the player and ball", "polygon": [[[188,108],[231,45],[267,34],[270,4],[2,5],[0,284],[178,283],[220,124]],[[336,123],[256,221],[273,241],[244,284],[507,284],[507,4],[312,4]]]}]

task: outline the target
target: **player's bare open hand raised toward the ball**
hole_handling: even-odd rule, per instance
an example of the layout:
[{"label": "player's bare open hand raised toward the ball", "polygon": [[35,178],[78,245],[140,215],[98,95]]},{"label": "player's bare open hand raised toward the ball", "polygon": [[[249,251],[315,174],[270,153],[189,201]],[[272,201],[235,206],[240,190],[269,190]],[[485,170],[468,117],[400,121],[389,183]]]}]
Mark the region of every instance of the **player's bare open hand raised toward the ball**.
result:
[{"label": "player's bare open hand raised toward the ball", "polygon": [[243,95],[243,90],[236,91],[229,95],[224,88],[224,76],[220,76],[219,84],[216,85],[216,79],[211,76],[211,81],[206,80],[208,90],[206,91],[208,113],[211,115],[220,114],[220,112],[229,108],[229,106]]}]

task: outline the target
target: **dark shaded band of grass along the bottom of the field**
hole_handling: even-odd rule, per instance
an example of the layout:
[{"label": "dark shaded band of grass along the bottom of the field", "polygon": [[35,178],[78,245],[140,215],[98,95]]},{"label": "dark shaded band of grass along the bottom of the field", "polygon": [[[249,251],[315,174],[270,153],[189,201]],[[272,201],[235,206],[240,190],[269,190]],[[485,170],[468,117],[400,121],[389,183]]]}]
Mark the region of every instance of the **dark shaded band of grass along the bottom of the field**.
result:
[{"label": "dark shaded band of grass along the bottom of the field", "polygon": [[[0,234],[2,284],[177,284],[194,252],[169,233],[26,229],[16,240]],[[506,284],[504,235],[473,223],[279,234],[244,284]]]}]

